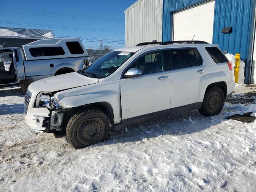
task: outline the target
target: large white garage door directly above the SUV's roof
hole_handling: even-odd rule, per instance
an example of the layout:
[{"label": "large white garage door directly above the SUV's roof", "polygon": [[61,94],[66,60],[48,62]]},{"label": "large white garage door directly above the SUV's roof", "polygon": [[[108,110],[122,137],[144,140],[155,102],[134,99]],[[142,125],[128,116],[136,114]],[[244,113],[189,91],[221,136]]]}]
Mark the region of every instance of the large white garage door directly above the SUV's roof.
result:
[{"label": "large white garage door directly above the SUV's roof", "polygon": [[174,13],[173,40],[212,43],[214,0]]}]

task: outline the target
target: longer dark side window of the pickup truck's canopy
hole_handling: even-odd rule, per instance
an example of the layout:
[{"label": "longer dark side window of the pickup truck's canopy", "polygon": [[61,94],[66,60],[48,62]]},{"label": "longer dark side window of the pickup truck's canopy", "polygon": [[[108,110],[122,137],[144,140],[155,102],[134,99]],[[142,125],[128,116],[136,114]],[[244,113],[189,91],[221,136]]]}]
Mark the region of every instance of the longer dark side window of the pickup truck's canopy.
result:
[{"label": "longer dark side window of the pickup truck's canopy", "polygon": [[36,47],[30,48],[29,52],[33,57],[57,56],[65,54],[62,47]]}]

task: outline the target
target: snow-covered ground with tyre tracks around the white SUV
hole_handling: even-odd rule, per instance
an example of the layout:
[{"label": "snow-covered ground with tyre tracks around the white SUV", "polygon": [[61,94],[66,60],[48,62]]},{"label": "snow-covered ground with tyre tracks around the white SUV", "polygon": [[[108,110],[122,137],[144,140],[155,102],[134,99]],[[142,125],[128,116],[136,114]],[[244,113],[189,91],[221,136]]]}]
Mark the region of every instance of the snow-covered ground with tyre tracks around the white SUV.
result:
[{"label": "snow-covered ground with tyre tracks around the white SUV", "polygon": [[65,138],[30,132],[20,89],[0,90],[0,191],[255,192],[256,123],[224,117],[255,115],[256,87],[236,91],[217,116],[152,120],[74,150]]}]

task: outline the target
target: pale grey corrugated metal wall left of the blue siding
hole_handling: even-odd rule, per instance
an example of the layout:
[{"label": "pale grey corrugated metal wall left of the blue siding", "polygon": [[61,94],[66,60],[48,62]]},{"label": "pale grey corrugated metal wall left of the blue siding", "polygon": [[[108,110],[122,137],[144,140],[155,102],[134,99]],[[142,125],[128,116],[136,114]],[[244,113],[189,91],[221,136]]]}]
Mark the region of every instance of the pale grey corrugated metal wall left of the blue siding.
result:
[{"label": "pale grey corrugated metal wall left of the blue siding", "polygon": [[138,0],[124,14],[126,46],[162,41],[163,0]]}]

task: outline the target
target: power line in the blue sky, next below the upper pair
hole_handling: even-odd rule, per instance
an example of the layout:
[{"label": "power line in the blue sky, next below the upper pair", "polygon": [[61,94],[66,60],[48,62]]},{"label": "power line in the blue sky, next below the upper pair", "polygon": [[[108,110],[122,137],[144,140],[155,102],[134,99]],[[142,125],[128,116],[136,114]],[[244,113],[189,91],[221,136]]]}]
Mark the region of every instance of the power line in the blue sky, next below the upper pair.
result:
[{"label": "power line in the blue sky, next below the upper pair", "polygon": [[54,26],[54,25],[45,25],[45,24],[33,24],[33,23],[22,23],[22,22],[7,22],[1,21],[3,24],[13,24],[13,25],[23,25],[23,26],[36,26],[36,27],[47,27],[47,28],[57,28],[57,29],[69,29],[69,30],[84,30],[84,31],[97,31],[97,32],[113,32],[113,33],[124,33],[121,30],[108,30],[108,29],[97,29],[97,28],[75,28],[72,26]]}]

